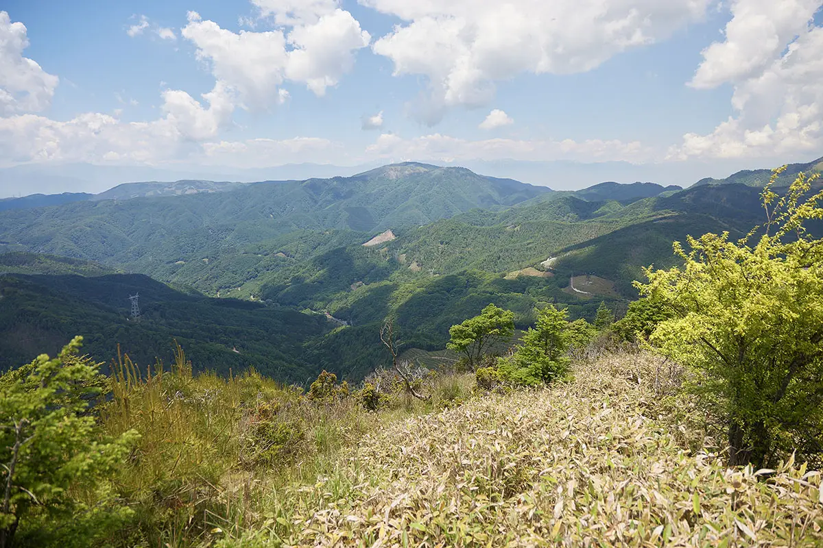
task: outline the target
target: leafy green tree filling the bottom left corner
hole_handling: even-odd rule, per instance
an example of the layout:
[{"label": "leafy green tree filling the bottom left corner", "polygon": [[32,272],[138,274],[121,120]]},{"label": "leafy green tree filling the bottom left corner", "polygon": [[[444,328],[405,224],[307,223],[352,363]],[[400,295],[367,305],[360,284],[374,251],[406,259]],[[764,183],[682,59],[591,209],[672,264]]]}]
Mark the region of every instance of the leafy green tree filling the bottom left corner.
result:
[{"label": "leafy green tree filling the bottom left corner", "polygon": [[[100,479],[122,462],[137,433],[98,439],[88,407],[100,394],[99,375],[95,364],[77,357],[81,340],[56,358],[44,354],[0,376],[0,548],[28,534],[26,520],[48,526],[31,527],[32,535],[63,528],[62,536],[87,546],[90,536],[130,513]],[[86,497],[72,496],[83,492]]]}]

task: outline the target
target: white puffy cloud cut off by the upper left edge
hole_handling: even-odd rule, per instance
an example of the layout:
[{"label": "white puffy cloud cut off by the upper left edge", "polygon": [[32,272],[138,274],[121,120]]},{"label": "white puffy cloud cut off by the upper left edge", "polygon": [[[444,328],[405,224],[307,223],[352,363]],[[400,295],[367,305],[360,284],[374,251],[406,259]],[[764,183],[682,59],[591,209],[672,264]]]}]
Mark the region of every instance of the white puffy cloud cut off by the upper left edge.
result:
[{"label": "white puffy cloud cut off by the upper left edge", "polygon": [[28,47],[26,25],[0,12],[0,116],[40,112],[51,104],[59,79],[23,57]]}]

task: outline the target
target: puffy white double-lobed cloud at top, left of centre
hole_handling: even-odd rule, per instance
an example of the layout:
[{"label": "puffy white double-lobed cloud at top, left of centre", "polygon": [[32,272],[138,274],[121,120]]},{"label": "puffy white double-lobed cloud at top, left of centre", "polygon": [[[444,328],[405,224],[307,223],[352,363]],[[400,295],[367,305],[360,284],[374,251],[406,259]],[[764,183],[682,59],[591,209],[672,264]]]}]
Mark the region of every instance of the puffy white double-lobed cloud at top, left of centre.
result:
[{"label": "puffy white double-lobed cloud at top, left of centre", "polygon": [[267,2],[265,10],[261,7],[281,24],[292,25],[285,34],[281,29],[234,33],[213,21],[202,21],[196,12],[189,12],[182,34],[198,47],[198,58],[211,65],[217,81],[238,91],[246,108],[263,109],[281,102],[278,88],[284,81],[300,82],[323,95],[351,70],[354,53],[369,44],[370,36],[349,12],[313,11],[312,2],[298,9],[302,5],[278,0]]}]

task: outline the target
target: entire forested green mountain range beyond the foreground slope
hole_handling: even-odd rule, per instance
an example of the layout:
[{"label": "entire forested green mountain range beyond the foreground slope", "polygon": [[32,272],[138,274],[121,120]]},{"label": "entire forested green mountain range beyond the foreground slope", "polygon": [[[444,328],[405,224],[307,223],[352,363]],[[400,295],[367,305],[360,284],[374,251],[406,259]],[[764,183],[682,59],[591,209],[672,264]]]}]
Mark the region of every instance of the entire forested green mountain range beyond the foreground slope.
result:
[{"label": "entire forested green mountain range beyond the foreground slope", "polygon": [[326,179],[129,183],[6,210],[14,200],[0,200],[0,369],[85,334],[105,362],[118,344],[143,363],[167,357],[178,338],[216,371],[357,378],[385,359],[387,315],[407,348],[430,351],[489,302],[519,328],[540,302],[572,318],[600,302],[620,311],[641,267],[676,264],[673,241],[742,236],[764,220],[762,174],[750,173],[569,192],[407,162]]}]

